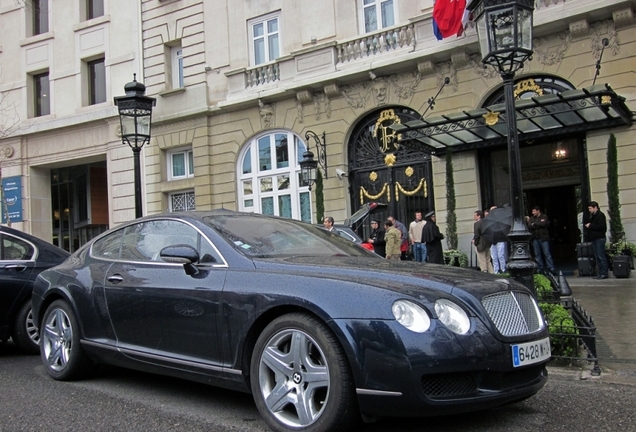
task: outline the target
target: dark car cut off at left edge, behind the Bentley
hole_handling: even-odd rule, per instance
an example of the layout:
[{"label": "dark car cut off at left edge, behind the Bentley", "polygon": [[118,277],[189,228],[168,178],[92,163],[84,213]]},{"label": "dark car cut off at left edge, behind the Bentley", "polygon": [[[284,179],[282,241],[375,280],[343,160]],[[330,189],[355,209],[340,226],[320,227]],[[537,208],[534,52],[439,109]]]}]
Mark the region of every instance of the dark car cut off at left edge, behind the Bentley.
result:
[{"label": "dark car cut off at left edge, behind the Bentley", "polygon": [[31,291],[42,270],[69,253],[32,235],[0,226],[0,340],[9,337],[25,353],[37,354],[39,336],[31,314]]}]

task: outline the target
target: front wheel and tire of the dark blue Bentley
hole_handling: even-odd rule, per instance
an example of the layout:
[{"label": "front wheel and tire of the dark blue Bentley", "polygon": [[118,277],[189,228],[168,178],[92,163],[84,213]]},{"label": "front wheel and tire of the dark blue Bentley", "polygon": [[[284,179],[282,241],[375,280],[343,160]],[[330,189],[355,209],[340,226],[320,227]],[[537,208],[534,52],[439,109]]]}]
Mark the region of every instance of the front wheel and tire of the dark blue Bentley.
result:
[{"label": "front wheel and tire of the dark blue Bentley", "polygon": [[251,388],[261,416],[275,431],[355,429],[360,418],[347,358],[318,319],[283,315],[259,336]]}]

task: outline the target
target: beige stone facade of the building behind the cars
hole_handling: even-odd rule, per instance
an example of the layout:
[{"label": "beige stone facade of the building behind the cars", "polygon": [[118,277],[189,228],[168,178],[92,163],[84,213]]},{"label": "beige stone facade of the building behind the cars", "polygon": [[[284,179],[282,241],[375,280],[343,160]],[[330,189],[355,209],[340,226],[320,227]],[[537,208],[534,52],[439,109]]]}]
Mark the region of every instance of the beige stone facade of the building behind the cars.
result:
[{"label": "beige stone facade of the building behind the cars", "polygon": [[[15,22],[12,30],[25,34],[21,24],[25,11],[12,6],[13,1],[0,2],[3,23],[11,20]],[[57,3],[58,0],[56,7]],[[77,2],[59,3],[72,14],[71,4]],[[171,194],[180,191],[193,191],[200,210],[245,209],[238,171],[239,157],[246,146],[267,131],[287,131],[304,140],[305,133],[311,130],[319,134],[324,131],[326,136],[325,212],[342,222],[360,202],[350,152],[362,118],[396,107],[425,117],[469,111],[482,107],[502,85],[498,74],[481,65],[474,28],[469,26],[462,37],[435,39],[431,23],[433,0],[394,1],[396,25],[370,33],[361,30],[361,4],[143,0],[138,11],[140,20],[132,14],[129,18],[115,18],[113,13],[94,25],[86,25],[86,29],[84,24],[76,23],[75,27],[82,29],[69,28],[75,37],[66,39],[61,37],[63,30],[56,27],[55,37],[45,43],[55,47],[48,48],[48,52],[56,53],[55,63],[51,64],[61,65],[59,71],[55,66],[52,72],[55,113],[46,120],[25,120],[19,132],[0,139],[0,144],[15,149],[15,155],[2,162],[3,176],[23,175],[30,179],[26,182],[26,221],[22,227],[45,238],[50,233],[46,228],[50,214],[46,207],[48,166],[95,157],[105,160],[109,168],[110,225],[134,216],[132,155],[116,134],[118,124],[112,103],[112,96],[123,93],[120,89],[130,81],[132,72],[143,78],[146,94],[157,98],[152,139],[142,153],[145,213],[169,210]],[[564,80],[574,88],[588,87],[595,78],[602,40],[607,38],[609,44],[604,49],[596,83],[608,83],[626,98],[628,107],[636,106],[632,66],[636,58],[636,2],[536,0],[535,4],[534,56],[517,79],[547,76]],[[117,7],[116,0],[108,2],[111,11]],[[59,15],[54,13],[56,16]],[[248,28],[263,17],[278,19],[280,55],[271,62],[254,65]],[[141,30],[136,27],[139,21]],[[15,100],[24,100],[24,75],[32,70],[25,62],[31,58],[29,48],[40,42],[15,44],[8,40],[10,32],[4,28],[3,25],[0,30],[0,62],[4,66],[9,56],[24,60],[15,70],[3,67],[0,90]],[[132,32],[124,28],[131,28]],[[100,106],[83,107],[78,95],[81,34],[93,29],[105,35],[102,40],[107,48],[101,50],[110,59],[109,97]],[[87,46],[100,51],[97,42]],[[175,87],[172,76],[170,52],[175,46],[183,52],[183,87]],[[446,77],[449,83],[444,86]],[[442,87],[431,110],[429,101]],[[26,111],[20,114],[20,119],[28,118]],[[586,149],[579,156],[587,159],[589,173],[582,181],[589,182],[591,199],[605,211],[605,151],[609,133],[616,135],[621,211],[630,241],[636,241],[633,131],[634,126],[601,129],[578,138]],[[86,145],[86,135],[91,137],[90,145]],[[36,145],[38,140],[49,146]],[[191,149],[194,175],[172,180],[168,158],[171,151],[179,149]],[[483,166],[480,172],[483,158],[479,151],[453,156],[460,249],[465,251],[472,238],[473,211],[485,200],[482,180],[487,173]],[[430,163],[428,193],[434,197],[430,206],[437,211],[443,231],[445,161],[443,157],[432,157]],[[336,169],[349,176],[339,178]],[[357,175],[362,175],[362,171]],[[312,201],[314,209],[315,195]],[[410,212],[409,208],[403,218],[412,217]],[[312,218],[319,222],[313,213]]]}]

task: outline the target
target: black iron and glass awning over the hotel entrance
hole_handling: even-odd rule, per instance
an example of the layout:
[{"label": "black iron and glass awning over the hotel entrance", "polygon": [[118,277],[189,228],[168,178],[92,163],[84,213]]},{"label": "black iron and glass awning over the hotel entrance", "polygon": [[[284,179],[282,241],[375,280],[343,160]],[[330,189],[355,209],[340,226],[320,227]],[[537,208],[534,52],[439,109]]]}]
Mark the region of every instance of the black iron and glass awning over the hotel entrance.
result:
[{"label": "black iron and glass awning over the hotel entrance", "polygon": [[[634,120],[625,98],[607,84],[519,99],[515,101],[515,110],[520,142],[631,126]],[[395,123],[391,129],[401,134],[401,144],[418,147],[423,144],[436,156],[443,155],[447,148],[459,152],[507,142],[503,103],[405,124]]]}]

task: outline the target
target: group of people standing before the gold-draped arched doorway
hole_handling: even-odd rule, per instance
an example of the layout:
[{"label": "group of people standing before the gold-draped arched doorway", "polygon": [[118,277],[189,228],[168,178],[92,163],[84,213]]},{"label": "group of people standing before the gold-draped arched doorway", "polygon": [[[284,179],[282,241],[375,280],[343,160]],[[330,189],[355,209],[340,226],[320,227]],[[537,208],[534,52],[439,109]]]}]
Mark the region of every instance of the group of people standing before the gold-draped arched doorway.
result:
[{"label": "group of people standing before the gold-draped arched doorway", "polygon": [[376,254],[390,260],[406,259],[409,248],[412,248],[413,259],[418,262],[444,264],[442,239],[435,222],[435,212],[415,212],[415,220],[406,226],[389,216],[380,227],[380,221],[371,221],[371,236],[368,242],[373,245]]}]

